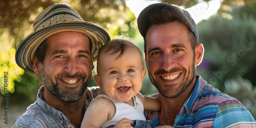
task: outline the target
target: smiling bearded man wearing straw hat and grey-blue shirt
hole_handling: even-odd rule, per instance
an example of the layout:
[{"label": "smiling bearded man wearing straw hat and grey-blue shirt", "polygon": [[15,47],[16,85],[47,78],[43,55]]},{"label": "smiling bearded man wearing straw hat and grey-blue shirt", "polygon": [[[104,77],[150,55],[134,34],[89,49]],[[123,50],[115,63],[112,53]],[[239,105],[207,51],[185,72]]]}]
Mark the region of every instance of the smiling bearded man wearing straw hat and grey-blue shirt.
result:
[{"label": "smiling bearded man wearing straw hat and grey-blue shirt", "polygon": [[37,101],[13,127],[80,127],[93,98],[90,82],[98,49],[108,32],[67,4],[53,4],[39,13],[34,31],[17,47],[20,68],[40,75]]}]

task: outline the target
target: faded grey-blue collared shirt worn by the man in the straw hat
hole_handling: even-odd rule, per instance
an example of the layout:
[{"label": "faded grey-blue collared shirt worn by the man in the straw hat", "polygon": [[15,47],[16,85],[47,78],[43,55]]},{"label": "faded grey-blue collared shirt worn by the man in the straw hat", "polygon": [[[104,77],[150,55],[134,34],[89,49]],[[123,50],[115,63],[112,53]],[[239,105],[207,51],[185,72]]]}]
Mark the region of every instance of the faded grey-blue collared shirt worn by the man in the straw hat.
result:
[{"label": "faded grey-blue collared shirt worn by the man in the straw hat", "polygon": [[[37,94],[37,100],[31,104],[27,112],[18,117],[16,123],[13,125],[16,127],[75,127],[62,112],[53,108],[46,101],[42,100],[44,96],[44,88],[41,87]],[[91,87],[86,90],[87,101],[84,104],[83,114],[89,106],[90,102],[100,94],[99,88]]]}]

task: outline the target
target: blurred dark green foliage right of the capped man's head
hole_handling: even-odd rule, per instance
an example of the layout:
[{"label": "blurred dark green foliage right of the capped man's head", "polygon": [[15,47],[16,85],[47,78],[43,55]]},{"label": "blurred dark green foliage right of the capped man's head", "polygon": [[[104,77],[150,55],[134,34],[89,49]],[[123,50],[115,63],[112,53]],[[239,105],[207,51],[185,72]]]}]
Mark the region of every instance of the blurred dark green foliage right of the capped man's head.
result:
[{"label": "blurred dark green foliage right of the capped man's head", "polygon": [[[204,45],[205,53],[198,72],[204,69],[204,78],[210,84],[224,90],[224,81],[240,75],[252,81],[254,85],[256,58],[256,24],[250,10],[256,3],[233,8],[231,17],[227,15],[213,16],[198,24],[200,42]],[[234,13],[237,12],[237,13]],[[249,76],[249,77],[248,77]]]}]

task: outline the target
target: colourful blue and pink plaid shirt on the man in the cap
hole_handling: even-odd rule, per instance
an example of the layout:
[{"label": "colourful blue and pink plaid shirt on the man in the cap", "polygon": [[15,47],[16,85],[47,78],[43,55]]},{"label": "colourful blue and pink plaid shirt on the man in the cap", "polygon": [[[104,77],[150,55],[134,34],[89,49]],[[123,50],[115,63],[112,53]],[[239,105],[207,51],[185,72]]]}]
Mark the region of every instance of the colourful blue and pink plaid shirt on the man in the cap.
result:
[{"label": "colourful blue and pink plaid shirt on the man in the cap", "polygon": [[[256,127],[255,119],[241,102],[207,84],[201,76],[197,78],[174,127]],[[144,114],[152,120],[152,127],[159,126],[158,112],[144,111]]]}]

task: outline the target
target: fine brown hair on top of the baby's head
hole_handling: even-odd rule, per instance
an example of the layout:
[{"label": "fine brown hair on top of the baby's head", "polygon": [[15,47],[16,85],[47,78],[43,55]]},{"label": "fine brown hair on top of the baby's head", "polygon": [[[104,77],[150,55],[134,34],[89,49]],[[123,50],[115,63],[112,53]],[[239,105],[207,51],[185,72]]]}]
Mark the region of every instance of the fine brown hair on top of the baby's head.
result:
[{"label": "fine brown hair on top of the baby's head", "polygon": [[108,55],[111,55],[111,54],[116,54],[120,51],[119,55],[116,57],[116,60],[117,60],[123,55],[124,51],[128,47],[136,48],[141,55],[140,49],[134,44],[132,39],[126,36],[120,36],[118,38],[112,39],[109,42],[106,42],[106,44],[99,49],[98,59],[101,54],[108,53]]}]

